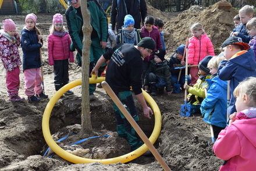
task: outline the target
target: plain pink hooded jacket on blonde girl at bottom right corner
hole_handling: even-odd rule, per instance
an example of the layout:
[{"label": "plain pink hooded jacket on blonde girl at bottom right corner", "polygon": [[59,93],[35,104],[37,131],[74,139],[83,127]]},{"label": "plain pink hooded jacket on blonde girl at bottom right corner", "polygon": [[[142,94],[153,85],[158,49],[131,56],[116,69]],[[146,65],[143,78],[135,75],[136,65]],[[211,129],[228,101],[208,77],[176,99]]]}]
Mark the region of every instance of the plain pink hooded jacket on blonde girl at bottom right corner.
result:
[{"label": "plain pink hooded jacket on blonde girl at bottom right corner", "polygon": [[219,133],[214,153],[227,161],[220,171],[256,170],[256,118],[235,120]]}]

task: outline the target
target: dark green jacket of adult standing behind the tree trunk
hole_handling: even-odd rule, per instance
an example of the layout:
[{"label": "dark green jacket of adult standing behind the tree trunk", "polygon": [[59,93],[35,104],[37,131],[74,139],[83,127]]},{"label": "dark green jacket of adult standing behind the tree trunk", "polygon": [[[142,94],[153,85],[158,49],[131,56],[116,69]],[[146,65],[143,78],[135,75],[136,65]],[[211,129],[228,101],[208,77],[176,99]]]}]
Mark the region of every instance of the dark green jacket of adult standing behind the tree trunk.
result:
[{"label": "dark green jacket of adult standing behind the tree trunk", "polygon": [[[97,1],[87,1],[87,8],[91,14],[91,26],[97,31],[100,41],[106,42],[108,37],[108,19],[106,14]],[[79,35],[83,19],[77,15],[77,10],[73,6],[69,6],[66,10],[67,28],[72,38],[74,47],[81,55],[83,49],[83,36]]]}]

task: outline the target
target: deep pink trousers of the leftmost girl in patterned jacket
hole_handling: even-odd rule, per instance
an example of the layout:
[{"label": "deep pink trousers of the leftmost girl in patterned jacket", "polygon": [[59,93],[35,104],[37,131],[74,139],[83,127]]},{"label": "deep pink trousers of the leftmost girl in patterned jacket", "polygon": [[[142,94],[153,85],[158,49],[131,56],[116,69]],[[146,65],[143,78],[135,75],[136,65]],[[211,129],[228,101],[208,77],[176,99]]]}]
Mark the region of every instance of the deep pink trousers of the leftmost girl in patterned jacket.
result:
[{"label": "deep pink trousers of the leftmost girl in patterned jacket", "polygon": [[10,98],[18,95],[20,88],[20,67],[6,72],[6,87]]}]

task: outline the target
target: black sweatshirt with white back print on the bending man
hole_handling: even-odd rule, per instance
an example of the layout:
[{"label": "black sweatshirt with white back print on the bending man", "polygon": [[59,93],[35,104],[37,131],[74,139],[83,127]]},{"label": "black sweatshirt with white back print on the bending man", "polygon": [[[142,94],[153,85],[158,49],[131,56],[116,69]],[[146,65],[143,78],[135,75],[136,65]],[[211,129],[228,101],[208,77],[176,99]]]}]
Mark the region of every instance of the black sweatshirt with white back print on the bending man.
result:
[{"label": "black sweatshirt with white back print on the bending man", "polygon": [[103,56],[106,60],[110,59],[106,70],[106,82],[115,93],[130,91],[130,86],[133,87],[134,94],[142,92],[143,59],[134,45],[119,44]]}]

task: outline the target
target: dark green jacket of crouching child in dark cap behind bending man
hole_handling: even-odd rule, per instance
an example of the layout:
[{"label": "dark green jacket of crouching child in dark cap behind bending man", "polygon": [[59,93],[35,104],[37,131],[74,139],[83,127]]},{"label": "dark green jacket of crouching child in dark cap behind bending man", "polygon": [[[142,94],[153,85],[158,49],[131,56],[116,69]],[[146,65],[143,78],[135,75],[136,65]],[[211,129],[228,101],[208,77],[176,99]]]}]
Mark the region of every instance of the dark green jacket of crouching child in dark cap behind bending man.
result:
[{"label": "dark green jacket of crouching child in dark cap behind bending man", "polygon": [[172,91],[172,74],[170,74],[167,61],[155,63],[154,59],[150,60],[150,66],[145,73],[145,85],[148,85],[148,74],[154,73],[157,77],[166,82],[166,91]]}]

